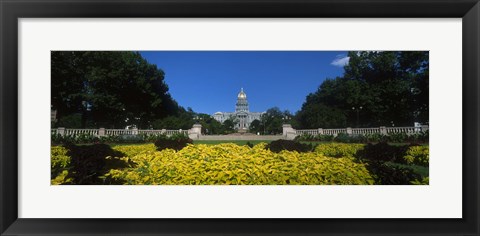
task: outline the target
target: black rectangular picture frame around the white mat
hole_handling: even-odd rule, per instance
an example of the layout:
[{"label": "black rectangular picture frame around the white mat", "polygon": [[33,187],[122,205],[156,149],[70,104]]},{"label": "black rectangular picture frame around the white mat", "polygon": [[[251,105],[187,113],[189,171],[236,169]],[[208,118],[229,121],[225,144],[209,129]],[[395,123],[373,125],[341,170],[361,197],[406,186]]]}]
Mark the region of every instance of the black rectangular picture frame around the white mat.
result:
[{"label": "black rectangular picture frame around the white mat", "polygon": [[[1,235],[479,235],[478,0],[0,0]],[[18,22],[57,17],[462,18],[462,219],[18,218]],[[460,155],[460,154],[459,154]],[[39,200],[41,204],[41,200]]]}]

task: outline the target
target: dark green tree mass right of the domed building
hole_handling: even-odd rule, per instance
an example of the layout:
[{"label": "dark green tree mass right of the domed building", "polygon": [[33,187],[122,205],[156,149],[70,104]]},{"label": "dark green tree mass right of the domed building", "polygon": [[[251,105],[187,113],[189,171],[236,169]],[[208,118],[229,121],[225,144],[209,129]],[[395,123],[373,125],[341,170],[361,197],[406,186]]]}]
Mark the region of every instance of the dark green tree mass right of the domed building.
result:
[{"label": "dark green tree mass right of the domed building", "polygon": [[428,52],[348,56],[342,77],[325,80],[307,96],[295,117],[301,128],[355,127],[357,119],[363,127],[428,122]]}]

